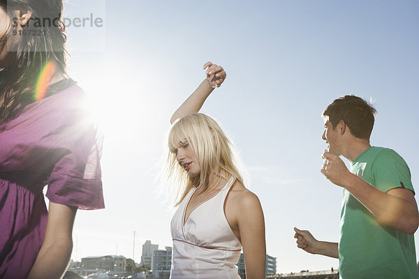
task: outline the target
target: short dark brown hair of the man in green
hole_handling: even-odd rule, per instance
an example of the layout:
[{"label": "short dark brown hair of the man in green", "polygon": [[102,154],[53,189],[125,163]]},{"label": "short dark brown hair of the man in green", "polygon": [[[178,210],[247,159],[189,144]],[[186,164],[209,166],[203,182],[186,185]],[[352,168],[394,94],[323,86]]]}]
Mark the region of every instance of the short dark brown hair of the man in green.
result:
[{"label": "short dark brown hair of the man in green", "polygon": [[374,127],[376,109],[364,99],[351,95],[334,100],[323,111],[333,128],[343,120],[354,137],[369,140]]}]

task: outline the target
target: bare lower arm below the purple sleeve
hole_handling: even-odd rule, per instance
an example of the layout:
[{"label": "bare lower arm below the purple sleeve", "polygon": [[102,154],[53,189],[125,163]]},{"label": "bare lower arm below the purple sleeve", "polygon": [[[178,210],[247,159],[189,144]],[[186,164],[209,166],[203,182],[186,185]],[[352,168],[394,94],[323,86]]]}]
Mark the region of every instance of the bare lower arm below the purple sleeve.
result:
[{"label": "bare lower arm below the purple sleeve", "polygon": [[76,211],[76,207],[50,202],[45,238],[28,279],[58,279],[66,271]]}]

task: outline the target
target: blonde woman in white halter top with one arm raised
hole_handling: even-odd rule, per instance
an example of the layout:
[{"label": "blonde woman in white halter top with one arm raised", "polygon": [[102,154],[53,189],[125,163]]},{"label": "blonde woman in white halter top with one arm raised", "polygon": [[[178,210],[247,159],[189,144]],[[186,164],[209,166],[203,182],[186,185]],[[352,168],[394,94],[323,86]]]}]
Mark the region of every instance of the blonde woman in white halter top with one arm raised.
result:
[{"label": "blonde woman in white halter top with one arm raised", "polygon": [[169,179],[179,185],[172,218],[172,279],[240,279],[243,249],[247,279],[265,279],[265,223],[258,197],[243,185],[233,146],[214,119],[198,114],[226,78],[211,62],[206,79],[173,114]]}]

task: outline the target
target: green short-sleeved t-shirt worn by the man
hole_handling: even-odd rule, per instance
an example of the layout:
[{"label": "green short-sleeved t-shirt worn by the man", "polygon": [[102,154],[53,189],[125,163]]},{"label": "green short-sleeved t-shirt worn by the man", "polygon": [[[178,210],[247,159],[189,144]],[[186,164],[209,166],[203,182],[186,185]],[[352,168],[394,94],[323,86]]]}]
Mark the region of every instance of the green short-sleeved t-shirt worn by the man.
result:
[{"label": "green short-sleeved t-shirt worn by the man", "polygon": [[[351,172],[383,192],[413,191],[409,167],[391,149],[370,147],[353,161]],[[347,190],[341,207],[339,274],[344,279],[419,278],[413,234],[378,224]]]}]

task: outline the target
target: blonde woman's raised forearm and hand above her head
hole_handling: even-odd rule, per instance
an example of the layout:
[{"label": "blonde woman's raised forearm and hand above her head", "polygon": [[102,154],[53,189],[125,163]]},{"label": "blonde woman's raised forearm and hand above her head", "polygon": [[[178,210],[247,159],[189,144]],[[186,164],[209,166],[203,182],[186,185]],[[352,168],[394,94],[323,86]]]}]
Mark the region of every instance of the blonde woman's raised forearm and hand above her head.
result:
[{"label": "blonde woman's raised forearm and hand above her head", "polygon": [[201,84],[198,86],[195,91],[187,98],[184,103],[175,111],[170,119],[170,123],[174,123],[177,119],[182,118],[188,114],[193,114],[199,112],[200,108],[203,106],[205,100],[207,100],[210,93],[214,88],[221,86],[221,84],[226,80],[226,71],[223,70],[223,67],[217,66],[211,62],[204,64],[203,69],[207,69],[205,72],[207,77]]}]

